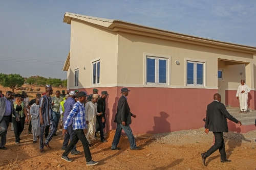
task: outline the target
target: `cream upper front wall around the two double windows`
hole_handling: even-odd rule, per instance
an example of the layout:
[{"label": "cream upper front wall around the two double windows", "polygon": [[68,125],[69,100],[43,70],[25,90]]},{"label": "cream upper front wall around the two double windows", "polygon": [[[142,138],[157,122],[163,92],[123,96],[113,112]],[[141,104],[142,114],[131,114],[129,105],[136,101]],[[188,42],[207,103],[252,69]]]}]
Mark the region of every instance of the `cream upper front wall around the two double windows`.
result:
[{"label": "cream upper front wall around the two double windows", "polygon": [[[167,87],[183,86],[184,88],[185,86],[185,88],[191,88],[186,86],[185,80],[187,58],[207,61],[206,87],[203,88],[218,88],[217,70],[219,58],[253,63],[253,55],[250,54],[130,33],[119,32],[119,35],[117,83],[120,85],[150,87],[145,85],[144,53],[171,57],[170,83]],[[176,65],[176,60],[180,62],[180,65]]]}]

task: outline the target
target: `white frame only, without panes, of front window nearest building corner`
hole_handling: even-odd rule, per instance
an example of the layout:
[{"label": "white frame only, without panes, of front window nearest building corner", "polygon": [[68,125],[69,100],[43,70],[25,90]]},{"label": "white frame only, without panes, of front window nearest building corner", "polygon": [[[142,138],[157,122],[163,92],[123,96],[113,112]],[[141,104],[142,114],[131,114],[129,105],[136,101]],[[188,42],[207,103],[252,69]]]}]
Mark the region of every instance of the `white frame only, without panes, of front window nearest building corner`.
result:
[{"label": "white frame only, without panes, of front window nearest building corner", "polygon": [[[155,83],[147,82],[147,59],[155,59]],[[166,61],[166,83],[159,83],[159,60],[165,60]],[[153,56],[146,56],[146,84],[156,84],[156,85],[167,85],[168,84],[168,58],[162,58],[162,57],[153,57]]]}]

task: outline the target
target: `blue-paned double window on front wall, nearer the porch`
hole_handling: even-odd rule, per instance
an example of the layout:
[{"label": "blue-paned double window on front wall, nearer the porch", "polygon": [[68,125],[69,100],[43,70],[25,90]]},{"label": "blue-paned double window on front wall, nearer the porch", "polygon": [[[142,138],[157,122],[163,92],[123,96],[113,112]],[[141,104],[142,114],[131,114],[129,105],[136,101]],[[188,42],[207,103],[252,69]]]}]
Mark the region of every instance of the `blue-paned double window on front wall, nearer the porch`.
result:
[{"label": "blue-paned double window on front wall, nearer the porch", "polygon": [[204,63],[187,61],[187,85],[204,85]]}]

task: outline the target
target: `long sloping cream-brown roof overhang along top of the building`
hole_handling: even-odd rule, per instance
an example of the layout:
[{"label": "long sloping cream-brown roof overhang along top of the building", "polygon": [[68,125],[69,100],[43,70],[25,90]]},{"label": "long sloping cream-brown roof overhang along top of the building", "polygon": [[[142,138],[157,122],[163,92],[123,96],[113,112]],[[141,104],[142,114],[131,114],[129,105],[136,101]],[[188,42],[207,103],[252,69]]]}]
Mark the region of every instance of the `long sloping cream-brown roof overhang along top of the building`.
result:
[{"label": "long sloping cream-brown roof overhang along top of the building", "polygon": [[218,41],[218,40],[213,40],[213,39],[208,39],[203,37],[191,36],[191,35],[176,33],[172,31],[157,29],[153,27],[142,26],[136,23],[131,23],[131,22],[118,20],[118,19],[105,19],[105,18],[98,18],[98,17],[66,12],[63,18],[63,22],[71,24],[71,19],[87,22],[92,25],[96,25],[98,27],[105,28],[115,32],[126,32],[126,33],[138,34],[143,36],[167,39],[172,41],[179,41],[179,42],[185,42],[190,44],[221,48],[221,49],[230,50],[230,51],[256,54],[256,47],[253,47],[253,46],[240,45],[240,44]]}]

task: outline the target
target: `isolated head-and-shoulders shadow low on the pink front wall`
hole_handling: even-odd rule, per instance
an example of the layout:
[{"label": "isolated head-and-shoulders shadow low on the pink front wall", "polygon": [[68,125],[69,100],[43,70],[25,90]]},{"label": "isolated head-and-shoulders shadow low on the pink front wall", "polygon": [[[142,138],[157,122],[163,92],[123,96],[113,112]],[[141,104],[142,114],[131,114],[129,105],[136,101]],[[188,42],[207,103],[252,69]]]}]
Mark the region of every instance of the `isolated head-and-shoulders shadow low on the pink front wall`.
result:
[{"label": "isolated head-and-shoulders shadow low on the pink front wall", "polygon": [[[160,112],[160,117],[154,117],[154,126],[152,131],[147,131],[147,133],[155,134],[160,132],[170,132],[170,123],[167,122],[169,115],[166,112]],[[164,130],[163,130],[164,129]]]}]

